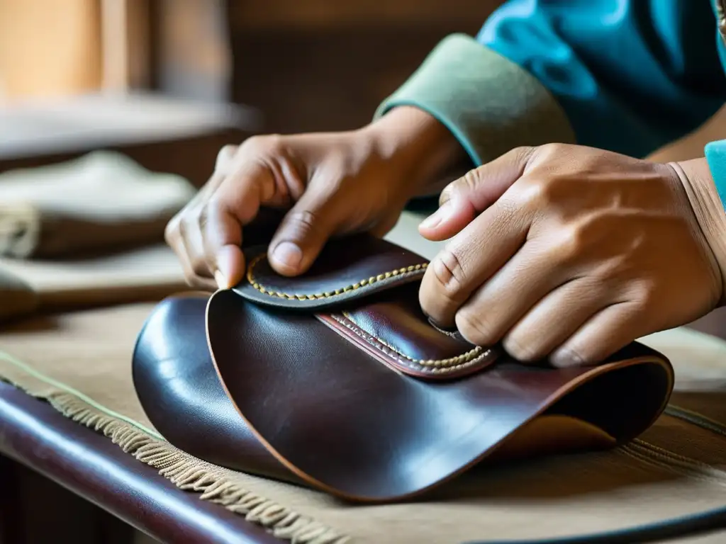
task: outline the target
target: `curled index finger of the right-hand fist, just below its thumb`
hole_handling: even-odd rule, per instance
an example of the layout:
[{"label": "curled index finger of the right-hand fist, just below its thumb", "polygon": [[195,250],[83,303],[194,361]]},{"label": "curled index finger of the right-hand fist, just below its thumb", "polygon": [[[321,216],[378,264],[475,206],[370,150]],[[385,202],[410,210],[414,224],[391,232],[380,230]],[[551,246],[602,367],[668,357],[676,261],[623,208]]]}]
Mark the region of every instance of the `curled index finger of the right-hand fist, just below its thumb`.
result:
[{"label": "curled index finger of the right-hand fist, just below its thumb", "polygon": [[423,312],[453,327],[457,310],[523,245],[529,224],[528,214],[506,198],[484,210],[428,265],[419,291]]}]

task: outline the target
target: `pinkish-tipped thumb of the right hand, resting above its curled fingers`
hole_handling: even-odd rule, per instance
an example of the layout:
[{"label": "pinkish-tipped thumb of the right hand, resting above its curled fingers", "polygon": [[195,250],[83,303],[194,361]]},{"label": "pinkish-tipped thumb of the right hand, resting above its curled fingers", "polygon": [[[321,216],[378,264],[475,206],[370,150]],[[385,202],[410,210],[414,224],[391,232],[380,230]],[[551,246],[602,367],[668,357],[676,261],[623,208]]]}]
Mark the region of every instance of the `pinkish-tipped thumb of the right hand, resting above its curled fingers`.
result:
[{"label": "pinkish-tipped thumb of the right hand, resting above its curled fingers", "polygon": [[457,234],[521,178],[535,149],[518,147],[452,181],[441,191],[439,209],[420,224],[420,234],[433,241]]}]

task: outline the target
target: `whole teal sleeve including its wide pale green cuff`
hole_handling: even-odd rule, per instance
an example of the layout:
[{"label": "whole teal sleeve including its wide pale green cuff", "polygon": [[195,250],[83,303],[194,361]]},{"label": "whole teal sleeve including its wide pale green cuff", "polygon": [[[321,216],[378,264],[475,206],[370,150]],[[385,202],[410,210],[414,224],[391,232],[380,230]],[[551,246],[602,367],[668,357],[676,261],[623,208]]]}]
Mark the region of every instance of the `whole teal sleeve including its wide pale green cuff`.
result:
[{"label": "whole teal sleeve including its wide pale green cuff", "polygon": [[475,164],[521,145],[643,157],[726,100],[709,0],[510,0],[383,102],[438,118]]}]

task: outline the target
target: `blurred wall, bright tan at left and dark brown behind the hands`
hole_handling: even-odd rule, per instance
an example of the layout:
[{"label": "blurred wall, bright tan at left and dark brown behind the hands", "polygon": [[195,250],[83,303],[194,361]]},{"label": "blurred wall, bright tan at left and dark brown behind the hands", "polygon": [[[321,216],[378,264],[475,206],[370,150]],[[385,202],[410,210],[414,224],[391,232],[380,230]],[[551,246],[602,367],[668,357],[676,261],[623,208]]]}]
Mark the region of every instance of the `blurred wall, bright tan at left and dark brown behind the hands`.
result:
[{"label": "blurred wall, bright tan at left and dark brown behind the hands", "polygon": [[257,107],[265,131],[353,128],[441,38],[476,33],[500,3],[0,0],[0,100],[150,83]]}]

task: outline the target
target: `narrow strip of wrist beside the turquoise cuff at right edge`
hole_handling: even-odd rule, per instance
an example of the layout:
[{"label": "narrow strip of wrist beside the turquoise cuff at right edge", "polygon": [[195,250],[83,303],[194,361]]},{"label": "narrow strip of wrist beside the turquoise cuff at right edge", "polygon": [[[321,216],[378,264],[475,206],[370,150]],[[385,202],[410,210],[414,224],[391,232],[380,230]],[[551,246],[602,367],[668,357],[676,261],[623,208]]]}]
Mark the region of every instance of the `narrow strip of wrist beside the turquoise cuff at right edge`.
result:
[{"label": "narrow strip of wrist beside the turquoise cuff at right edge", "polygon": [[722,284],[722,297],[719,305],[724,305],[726,302],[726,213],[713,176],[711,176],[709,164],[704,158],[670,164],[681,179],[698,226],[717,262]]}]

